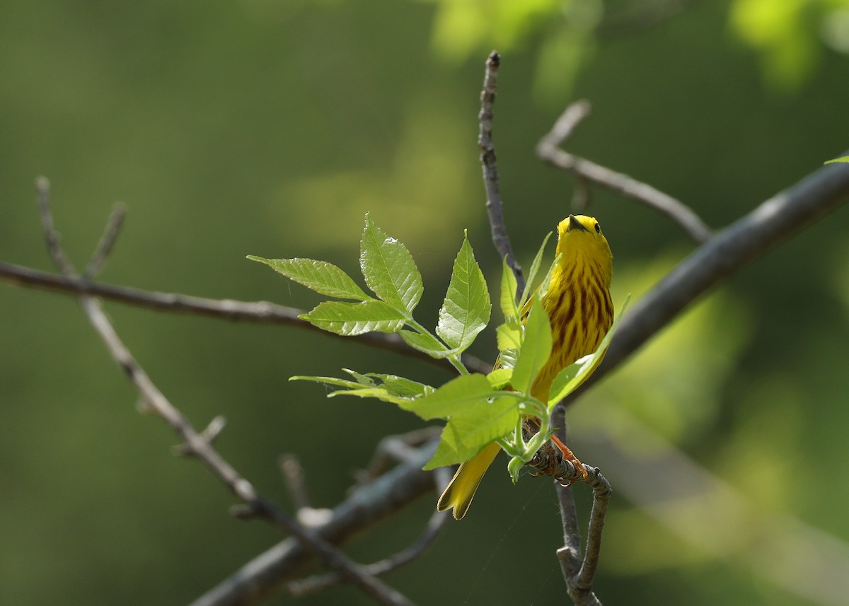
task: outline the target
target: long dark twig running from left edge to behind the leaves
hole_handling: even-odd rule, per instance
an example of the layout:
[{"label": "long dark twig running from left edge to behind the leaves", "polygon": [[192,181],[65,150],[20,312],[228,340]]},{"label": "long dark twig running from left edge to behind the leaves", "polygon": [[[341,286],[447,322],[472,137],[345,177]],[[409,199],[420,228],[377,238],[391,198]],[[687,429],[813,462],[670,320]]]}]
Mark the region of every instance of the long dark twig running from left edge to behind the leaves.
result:
[{"label": "long dark twig running from left edge to behind the leaves", "polygon": [[[102,299],[120,301],[128,305],[146,307],[155,311],[185,313],[192,316],[216,317],[233,322],[256,322],[263,324],[284,324],[315,330],[339,339],[355,340],[365,345],[378,347],[386,351],[410,356],[430,362],[440,368],[453,370],[445,360],[436,360],[427,354],[413,350],[404,343],[397,334],[367,333],[355,337],[343,337],[329,333],[298,317],[304,313],[301,309],[270,303],[268,301],[239,301],[231,299],[206,299],[177,293],[161,293],[152,290],[133,289],[125,286],[115,286],[92,282],[85,278],[58,276],[54,273],[41,272],[31,267],[22,267],[13,263],[0,261],[0,279],[20,286],[35,289],[53,290],[65,295],[90,295]],[[488,373],[492,363],[464,354],[463,363],[466,368],[477,373]]]}]

